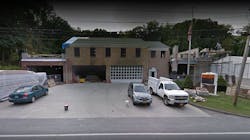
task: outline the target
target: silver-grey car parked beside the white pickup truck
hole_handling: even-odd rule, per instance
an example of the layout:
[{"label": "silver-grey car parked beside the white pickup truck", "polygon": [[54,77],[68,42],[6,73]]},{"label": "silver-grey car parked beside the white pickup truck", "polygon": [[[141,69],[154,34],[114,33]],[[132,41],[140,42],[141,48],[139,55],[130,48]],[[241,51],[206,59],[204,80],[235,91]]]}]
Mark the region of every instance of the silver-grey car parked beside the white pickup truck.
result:
[{"label": "silver-grey car parked beside the white pickup truck", "polygon": [[146,90],[146,87],[142,83],[130,83],[128,86],[128,97],[131,97],[134,105],[152,103],[152,96]]}]

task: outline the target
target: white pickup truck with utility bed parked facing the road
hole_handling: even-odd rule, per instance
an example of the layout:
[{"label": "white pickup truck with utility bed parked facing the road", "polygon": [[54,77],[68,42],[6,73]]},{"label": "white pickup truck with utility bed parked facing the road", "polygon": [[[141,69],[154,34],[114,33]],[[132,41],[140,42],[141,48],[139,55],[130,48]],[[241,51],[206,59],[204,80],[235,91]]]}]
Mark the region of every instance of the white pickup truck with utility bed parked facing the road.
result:
[{"label": "white pickup truck with utility bed parked facing the road", "polygon": [[165,77],[160,77],[160,79],[149,77],[148,88],[150,94],[157,94],[160,96],[165,105],[179,104],[183,106],[188,103],[188,93],[181,90],[172,79]]}]

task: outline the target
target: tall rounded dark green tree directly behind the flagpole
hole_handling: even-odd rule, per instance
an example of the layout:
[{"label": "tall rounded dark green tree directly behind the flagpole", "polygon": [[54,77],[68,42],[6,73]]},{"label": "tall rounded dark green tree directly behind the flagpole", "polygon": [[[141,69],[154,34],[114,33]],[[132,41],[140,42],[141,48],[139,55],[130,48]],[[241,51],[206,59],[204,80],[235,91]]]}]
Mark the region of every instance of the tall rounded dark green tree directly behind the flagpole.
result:
[{"label": "tall rounded dark green tree directly behind the flagpole", "polygon": [[[172,28],[172,35],[176,38],[175,45],[179,46],[180,51],[187,50],[187,32],[191,20],[177,23]],[[222,42],[229,33],[231,26],[218,24],[211,19],[194,19],[192,29],[192,48],[214,48],[217,42]],[[172,39],[174,40],[174,39]]]}]

